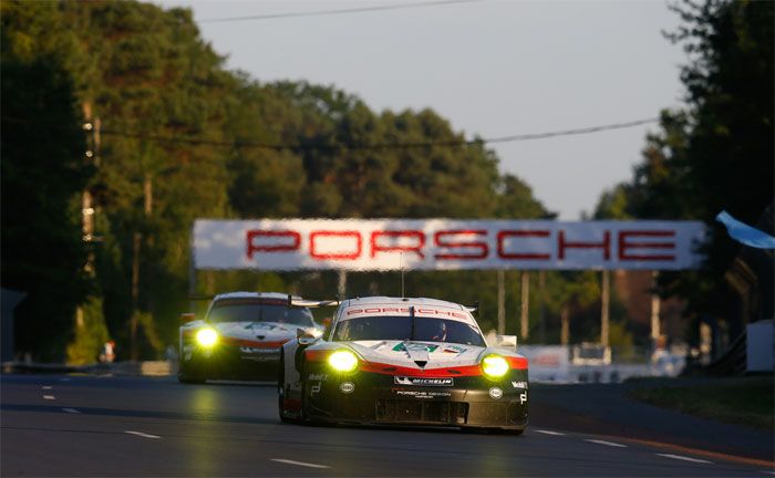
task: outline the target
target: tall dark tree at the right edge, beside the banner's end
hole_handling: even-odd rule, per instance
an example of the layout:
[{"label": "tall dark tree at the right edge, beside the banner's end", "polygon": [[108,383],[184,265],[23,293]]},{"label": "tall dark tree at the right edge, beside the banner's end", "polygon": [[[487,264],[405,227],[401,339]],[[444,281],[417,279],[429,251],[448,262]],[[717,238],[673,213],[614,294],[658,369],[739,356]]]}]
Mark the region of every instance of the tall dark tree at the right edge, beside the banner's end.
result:
[{"label": "tall dark tree at the right edge, beside the banner's end", "polygon": [[773,2],[686,0],[672,8],[684,22],[668,37],[689,55],[681,73],[686,106],[662,112],[633,179],[607,191],[596,215],[705,221],[702,268],[660,274],[660,291],[688,299],[695,319],[723,318],[724,273],[740,247],[715,216],[727,210],[755,224],[773,201]]}]

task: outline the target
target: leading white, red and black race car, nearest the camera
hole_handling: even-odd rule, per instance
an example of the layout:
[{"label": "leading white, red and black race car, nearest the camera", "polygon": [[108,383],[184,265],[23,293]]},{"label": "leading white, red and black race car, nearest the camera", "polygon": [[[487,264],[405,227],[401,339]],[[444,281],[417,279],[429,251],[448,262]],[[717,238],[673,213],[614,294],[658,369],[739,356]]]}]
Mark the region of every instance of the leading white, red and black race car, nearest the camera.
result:
[{"label": "leading white, red and black race car, nearest the camera", "polygon": [[[310,302],[297,302],[314,305]],[[432,425],[521,434],[528,363],[489,346],[473,308],[434,299],[348,299],[322,337],[282,346],[282,422]]]}]

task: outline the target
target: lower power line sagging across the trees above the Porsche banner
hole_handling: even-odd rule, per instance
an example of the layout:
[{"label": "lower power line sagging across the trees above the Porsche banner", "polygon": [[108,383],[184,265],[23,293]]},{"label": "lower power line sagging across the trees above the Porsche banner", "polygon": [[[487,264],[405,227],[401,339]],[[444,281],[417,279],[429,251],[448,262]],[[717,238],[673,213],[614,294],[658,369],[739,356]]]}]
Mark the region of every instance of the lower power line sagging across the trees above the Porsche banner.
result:
[{"label": "lower power line sagging across the trees above the Porsche banner", "polygon": [[258,149],[290,149],[290,150],[339,150],[339,149],[412,149],[412,148],[430,148],[430,147],[458,147],[458,146],[472,146],[482,145],[490,143],[515,143],[533,139],[546,139],[550,137],[560,136],[576,136],[592,133],[600,133],[604,131],[612,129],[624,129],[634,126],[640,126],[649,123],[657,123],[659,118],[645,118],[645,119],[634,119],[622,123],[612,123],[598,126],[586,126],[575,129],[562,129],[554,132],[544,133],[529,133],[529,134],[518,134],[512,136],[500,136],[493,138],[476,138],[476,139],[448,139],[448,141],[428,141],[428,142],[413,142],[413,143],[375,143],[375,144],[270,144],[270,143],[257,143],[257,142],[240,142],[240,141],[213,141],[213,139],[202,139],[202,138],[186,138],[186,137],[169,137],[162,135],[152,134],[141,134],[132,132],[122,132],[117,129],[103,129],[102,134],[107,136],[121,136],[134,139],[152,141],[159,144],[189,144],[189,145],[200,145],[200,146],[216,146],[216,147],[238,147],[238,148],[258,148]]}]

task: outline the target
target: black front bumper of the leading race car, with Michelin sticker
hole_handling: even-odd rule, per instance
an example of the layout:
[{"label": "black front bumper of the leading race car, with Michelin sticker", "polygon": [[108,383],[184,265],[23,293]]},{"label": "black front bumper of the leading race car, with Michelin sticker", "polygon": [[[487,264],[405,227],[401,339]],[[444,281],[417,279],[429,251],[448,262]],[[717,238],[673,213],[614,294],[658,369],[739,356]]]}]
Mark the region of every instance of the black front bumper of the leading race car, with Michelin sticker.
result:
[{"label": "black front bumper of the leading race car, with Michelin sticker", "polygon": [[528,419],[526,370],[506,377],[462,376],[433,386],[411,377],[328,370],[306,374],[304,412],[320,422],[524,429]]}]

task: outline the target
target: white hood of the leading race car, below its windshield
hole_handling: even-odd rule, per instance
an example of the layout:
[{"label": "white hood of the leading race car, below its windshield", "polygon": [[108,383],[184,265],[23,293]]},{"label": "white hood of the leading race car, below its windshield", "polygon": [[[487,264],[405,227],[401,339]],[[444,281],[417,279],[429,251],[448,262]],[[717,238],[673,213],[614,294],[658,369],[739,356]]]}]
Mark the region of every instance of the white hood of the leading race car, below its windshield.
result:
[{"label": "white hood of the leading race car, below its windshield", "polygon": [[425,341],[355,341],[352,349],[369,362],[416,368],[473,365],[485,347]]}]

